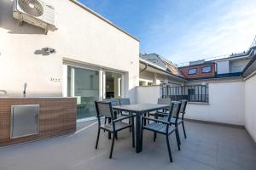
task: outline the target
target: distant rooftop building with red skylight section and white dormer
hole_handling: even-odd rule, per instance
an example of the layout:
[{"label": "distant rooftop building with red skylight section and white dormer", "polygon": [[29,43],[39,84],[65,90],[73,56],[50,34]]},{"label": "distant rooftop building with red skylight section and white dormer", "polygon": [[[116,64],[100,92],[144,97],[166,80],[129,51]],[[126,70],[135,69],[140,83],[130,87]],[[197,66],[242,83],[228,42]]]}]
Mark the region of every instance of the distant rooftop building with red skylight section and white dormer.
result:
[{"label": "distant rooftop building with red skylight section and white dormer", "polygon": [[189,65],[178,67],[178,70],[187,80],[241,77],[241,72],[255,53],[256,47],[252,47],[247,52],[230,54],[222,59],[192,61]]}]

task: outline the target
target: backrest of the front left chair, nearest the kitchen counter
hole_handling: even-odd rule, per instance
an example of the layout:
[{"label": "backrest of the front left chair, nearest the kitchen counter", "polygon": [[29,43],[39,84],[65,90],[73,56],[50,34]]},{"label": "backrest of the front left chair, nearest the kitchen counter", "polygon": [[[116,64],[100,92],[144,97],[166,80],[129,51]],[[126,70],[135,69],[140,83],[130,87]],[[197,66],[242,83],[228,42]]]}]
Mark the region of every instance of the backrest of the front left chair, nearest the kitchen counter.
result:
[{"label": "backrest of the front left chair, nearest the kitchen counter", "polygon": [[106,116],[113,119],[113,110],[111,102],[95,101],[95,105],[98,118],[100,116]]}]

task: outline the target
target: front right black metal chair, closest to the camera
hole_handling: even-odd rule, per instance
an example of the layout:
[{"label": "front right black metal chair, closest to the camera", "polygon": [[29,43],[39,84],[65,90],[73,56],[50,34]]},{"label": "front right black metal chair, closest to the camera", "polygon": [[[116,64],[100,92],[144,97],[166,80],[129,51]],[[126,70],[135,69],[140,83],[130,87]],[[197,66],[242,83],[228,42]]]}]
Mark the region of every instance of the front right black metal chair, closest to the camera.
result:
[{"label": "front right black metal chair, closest to the camera", "polygon": [[[166,144],[167,144],[168,154],[169,154],[169,158],[170,158],[171,162],[172,162],[172,152],[171,152],[171,147],[170,147],[170,143],[169,143],[169,135],[170,134],[172,134],[172,133],[176,134],[177,148],[178,148],[178,150],[180,150],[180,141],[179,141],[179,137],[178,137],[178,133],[177,133],[177,127],[172,125],[171,118],[172,118],[172,115],[178,117],[180,107],[181,107],[180,102],[172,102],[172,105],[170,106],[170,111],[168,113],[166,120],[154,119],[154,118],[150,118],[147,116],[143,116],[143,120],[153,121],[146,126],[143,125],[142,129],[143,130],[146,129],[146,130],[154,132],[154,140],[156,138],[156,133],[166,135]],[[142,140],[143,140],[143,131],[142,131]]]}]

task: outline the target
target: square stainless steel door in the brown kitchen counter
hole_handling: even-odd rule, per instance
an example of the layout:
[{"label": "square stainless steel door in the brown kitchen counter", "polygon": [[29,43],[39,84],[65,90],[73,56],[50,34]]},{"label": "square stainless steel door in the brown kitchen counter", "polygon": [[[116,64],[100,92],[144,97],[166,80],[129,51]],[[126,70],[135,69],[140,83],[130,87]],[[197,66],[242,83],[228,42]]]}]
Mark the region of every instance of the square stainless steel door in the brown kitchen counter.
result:
[{"label": "square stainless steel door in the brown kitchen counter", "polygon": [[38,134],[39,105],[12,105],[11,139]]}]

